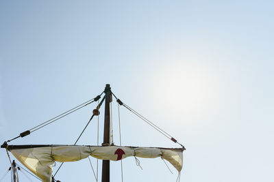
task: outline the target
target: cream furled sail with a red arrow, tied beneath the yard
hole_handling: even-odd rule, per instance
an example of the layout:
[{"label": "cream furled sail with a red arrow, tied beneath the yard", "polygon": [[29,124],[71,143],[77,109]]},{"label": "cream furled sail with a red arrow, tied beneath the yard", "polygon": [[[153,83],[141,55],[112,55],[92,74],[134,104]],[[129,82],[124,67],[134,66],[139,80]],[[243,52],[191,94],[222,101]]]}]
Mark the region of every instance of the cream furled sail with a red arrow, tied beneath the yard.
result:
[{"label": "cream furled sail with a red arrow, tied beneath the yard", "polygon": [[43,182],[51,182],[54,162],[73,162],[89,155],[100,160],[122,160],[136,156],[145,158],[162,157],[169,161],[178,171],[182,170],[182,149],[153,147],[119,147],[119,146],[80,146],[80,145],[10,145],[8,149],[26,168],[31,170]]}]

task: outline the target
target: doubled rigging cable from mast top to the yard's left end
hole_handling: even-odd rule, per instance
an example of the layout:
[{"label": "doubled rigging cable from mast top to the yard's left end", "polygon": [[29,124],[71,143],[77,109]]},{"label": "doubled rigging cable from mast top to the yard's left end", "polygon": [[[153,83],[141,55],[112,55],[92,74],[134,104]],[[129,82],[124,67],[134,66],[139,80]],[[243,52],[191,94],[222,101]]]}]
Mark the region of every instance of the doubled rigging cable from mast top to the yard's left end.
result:
[{"label": "doubled rigging cable from mast top to the yard's left end", "polygon": [[65,117],[66,115],[69,115],[72,112],[75,112],[76,110],[79,110],[80,108],[83,108],[84,106],[87,106],[88,104],[91,104],[92,102],[99,100],[102,94],[103,94],[103,92],[100,95],[97,95],[97,97],[93,98],[92,100],[88,100],[88,101],[84,102],[83,104],[79,104],[78,106],[75,106],[74,108],[71,108],[70,110],[67,110],[66,112],[63,112],[62,114],[58,115],[57,117],[53,117],[53,118],[49,119],[48,121],[40,123],[40,125],[37,125],[36,127],[32,127],[31,129],[29,129],[25,132],[22,132],[21,134],[19,134],[19,136],[16,136],[15,138],[8,140],[7,142],[15,140],[16,138],[19,138],[19,137],[23,138],[24,136],[27,136],[27,135],[31,134],[32,132],[35,132],[36,130],[39,130],[42,127],[45,127],[46,125],[49,125],[49,124],[53,123],[54,121],[57,121],[58,119],[61,119],[62,117]]}]

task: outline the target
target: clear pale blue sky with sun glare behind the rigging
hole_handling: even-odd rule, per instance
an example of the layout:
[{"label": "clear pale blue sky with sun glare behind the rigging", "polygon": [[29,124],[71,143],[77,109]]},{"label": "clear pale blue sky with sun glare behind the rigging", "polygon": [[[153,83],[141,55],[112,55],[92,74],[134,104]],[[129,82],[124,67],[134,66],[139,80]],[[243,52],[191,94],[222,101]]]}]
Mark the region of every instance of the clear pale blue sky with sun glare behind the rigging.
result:
[{"label": "clear pale blue sky with sun glare behind the rigging", "polygon": [[[274,181],[273,8],[252,0],[0,1],[0,142],[110,83],[185,145],[181,181]],[[73,144],[95,107],[11,144]],[[102,115],[99,122],[102,132]],[[179,147],[125,108],[121,124],[123,145]],[[95,120],[79,145],[96,145],[96,128]],[[4,149],[0,163],[3,175]],[[124,181],[176,181],[160,158],[140,164],[125,160]],[[111,169],[111,181],[121,181],[120,163]],[[56,179],[95,181],[88,160],[64,164]]]}]

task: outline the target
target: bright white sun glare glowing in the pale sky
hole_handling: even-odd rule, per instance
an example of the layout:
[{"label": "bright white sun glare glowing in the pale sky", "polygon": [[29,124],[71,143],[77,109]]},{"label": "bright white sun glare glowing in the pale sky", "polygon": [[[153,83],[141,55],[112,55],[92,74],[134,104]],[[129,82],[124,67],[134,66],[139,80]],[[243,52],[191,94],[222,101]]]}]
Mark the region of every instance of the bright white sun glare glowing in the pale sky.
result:
[{"label": "bright white sun glare glowing in the pale sky", "polygon": [[198,112],[201,108],[208,108],[211,103],[212,82],[208,73],[201,67],[169,67],[159,80],[159,94],[166,95],[162,102],[169,106],[175,104],[175,112]]}]

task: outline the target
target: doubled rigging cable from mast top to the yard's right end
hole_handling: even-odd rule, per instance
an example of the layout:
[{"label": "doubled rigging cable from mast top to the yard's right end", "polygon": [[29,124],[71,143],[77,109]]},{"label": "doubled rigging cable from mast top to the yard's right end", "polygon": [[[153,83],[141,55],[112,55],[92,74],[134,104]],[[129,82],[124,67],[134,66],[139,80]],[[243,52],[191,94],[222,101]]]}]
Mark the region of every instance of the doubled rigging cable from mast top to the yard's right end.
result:
[{"label": "doubled rigging cable from mast top to the yard's right end", "polygon": [[[114,93],[112,93],[112,95],[114,95]],[[170,140],[172,140],[173,142],[179,144],[181,147],[184,148],[184,146],[181,143],[177,142],[177,140],[175,138],[173,138],[170,134],[168,134],[167,132],[162,130],[160,127],[158,127],[158,125],[155,125],[154,123],[149,121],[149,119],[147,119],[147,118],[143,117],[142,115],[140,115],[140,113],[138,113],[136,110],[130,108],[129,106],[127,106],[127,104],[121,102],[121,100],[119,100],[115,95],[114,95],[114,97],[116,98],[116,102],[118,102],[121,106],[125,106],[125,108],[127,108],[129,111],[134,113],[134,115],[136,115],[137,117],[142,119],[142,121],[145,121],[147,124],[151,125],[151,127],[153,127],[155,130],[160,132],[162,135],[166,136],[166,138],[169,138]]]}]

